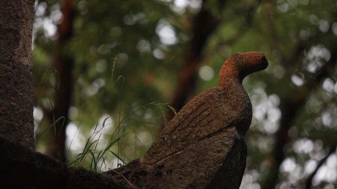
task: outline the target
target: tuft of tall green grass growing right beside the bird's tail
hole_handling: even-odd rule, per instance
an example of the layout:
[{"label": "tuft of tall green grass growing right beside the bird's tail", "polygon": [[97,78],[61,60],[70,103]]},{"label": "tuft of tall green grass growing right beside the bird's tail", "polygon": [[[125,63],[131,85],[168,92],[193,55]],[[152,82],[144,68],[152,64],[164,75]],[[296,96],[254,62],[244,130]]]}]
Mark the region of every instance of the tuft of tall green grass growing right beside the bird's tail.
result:
[{"label": "tuft of tall green grass growing right beside the bird's tail", "polygon": [[[121,59],[119,55],[117,54],[115,58],[112,59],[112,69],[111,69],[111,79],[113,78],[114,69],[117,61],[119,61],[120,66]],[[121,86],[124,84],[125,78],[124,76],[118,76],[114,86],[113,90],[117,88],[117,86]],[[122,166],[126,164],[125,157],[123,156],[122,152],[122,145],[123,145],[123,139],[125,136],[130,135],[133,133],[135,135],[135,157],[137,157],[137,143],[140,143],[139,138],[137,137],[137,134],[135,131],[127,130],[127,126],[130,122],[137,122],[139,124],[158,124],[163,125],[167,122],[167,115],[169,109],[173,112],[174,109],[169,106],[168,103],[158,103],[158,102],[152,102],[149,104],[146,104],[144,106],[133,106],[126,110],[125,113],[122,112],[122,105],[120,103],[119,105],[119,114],[118,114],[118,121],[114,124],[116,127],[114,131],[109,135],[108,141],[102,141],[102,129],[106,126],[106,120],[109,117],[106,117],[104,121],[101,124],[101,128],[98,129],[98,122],[95,126],[95,130],[93,134],[87,139],[86,144],[84,146],[84,149],[81,153],[79,153],[75,160],[70,162],[69,166],[85,166],[85,168],[95,171],[95,172],[101,172],[104,170],[107,170],[109,167],[110,162],[108,162],[108,159],[111,160],[111,156],[114,158],[117,158],[117,167]],[[162,123],[157,122],[149,122],[143,119],[137,119],[134,116],[138,111],[145,110],[146,108],[156,108],[160,111],[163,117]],[[101,145],[99,143],[106,143],[102,148],[100,148]],[[114,147],[117,147],[116,150],[112,150]],[[109,158],[107,158],[109,156]],[[89,162],[89,163],[88,163]]]}]

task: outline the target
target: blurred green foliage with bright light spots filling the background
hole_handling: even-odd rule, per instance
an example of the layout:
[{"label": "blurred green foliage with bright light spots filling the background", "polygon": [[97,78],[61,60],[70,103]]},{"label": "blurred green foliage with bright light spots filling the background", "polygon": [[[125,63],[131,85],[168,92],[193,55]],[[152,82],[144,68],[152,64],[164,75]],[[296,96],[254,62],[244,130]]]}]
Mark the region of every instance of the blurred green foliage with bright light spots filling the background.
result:
[{"label": "blurred green foliage with bright light spots filling the background", "polygon": [[[284,157],[273,188],[304,188],[311,176],[312,188],[337,188],[336,0],[227,0],[221,7],[216,0],[73,0],[72,5],[73,36],[63,49],[75,60],[68,161],[83,150],[95,126],[106,125],[109,117],[103,132],[108,137],[127,115],[127,132],[140,142],[126,136],[114,150],[121,150],[126,162],[142,156],[160,130],[162,111],[130,109],[170,102],[193,36],[192,19],[204,7],[220,24],[203,48],[194,95],[217,86],[223,61],[235,52],[261,51],[269,60],[266,71],[243,81],[253,120],[241,188],[267,188],[277,152]],[[57,0],[35,2],[34,118],[41,152],[49,137],[38,135],[49,124],[43,112],[50,110],[48,98],[53,102],[58,84],[49,67],[56,58],[61,6]],[[119,76],[125,81],[114,89]],[[280,136],[286,141],[277,149]],[[107,161],[117,166],[116,159]]]}]

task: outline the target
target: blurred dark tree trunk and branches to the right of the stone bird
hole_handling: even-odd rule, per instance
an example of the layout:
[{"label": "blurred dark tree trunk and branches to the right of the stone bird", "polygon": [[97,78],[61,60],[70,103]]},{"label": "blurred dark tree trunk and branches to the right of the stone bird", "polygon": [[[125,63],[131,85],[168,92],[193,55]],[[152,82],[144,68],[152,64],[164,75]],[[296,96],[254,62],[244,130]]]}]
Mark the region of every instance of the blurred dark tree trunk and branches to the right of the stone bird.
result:
[{"label": "blurred dark tree trunk and branches to the right of the stone bird", "polygon": [[[294,52],[302,52],[304,51],[302,46],[297,47]],[[284,95],[280,97],[280,110],[281,110],[281,120],[280,120],[280,129],[275,133],[275,145],[272,153],[272,159],[274,160],[271,164],[270,173],[264,183],[261,185],[261,189],[270,189],[274,188],[279,182],[279,169],[281,163],[286,158],[284,147],[290,142],[290,137],[288,135],[288,130],[291,128],[295,116],[298,112],[305,106],[307,103],[307,95],[310,91],[314,90],[317,86],[320,85],[324,78],[329,77],[328,70],[332,70],[337,65],[337,56],[335,55],[337,52],[337,48],[331,48],[332,56],[330,62],[334,62],[333,64],[325,64],[320,71],[317,72],[317,75],[306,76],[307,81],[303,84],[302,87],[293,89],[292,91],[288,91],[288,95]],[[289,68],[288,62],[301,62],[301,55],[298,53],[294,53],[293,57],[288,60],[284,60],[282,65],[287,68],[287,70],[291,70]],[[291,94],[292,96],[289,96]],[[332,148],[335,149],[335,144],[332,145]],[[330,153],[330,152],[329,152]],[[329,153],[327,156],[329,156]],[[325,160],[321,160],[325,161]],[[323,164],[323,162],[319,163],[317,168]],[[313,174],[315,174],[314,172]],[[311,187],[311,179],[314,175],[311,175],[306,183],[306,188]]]}]

